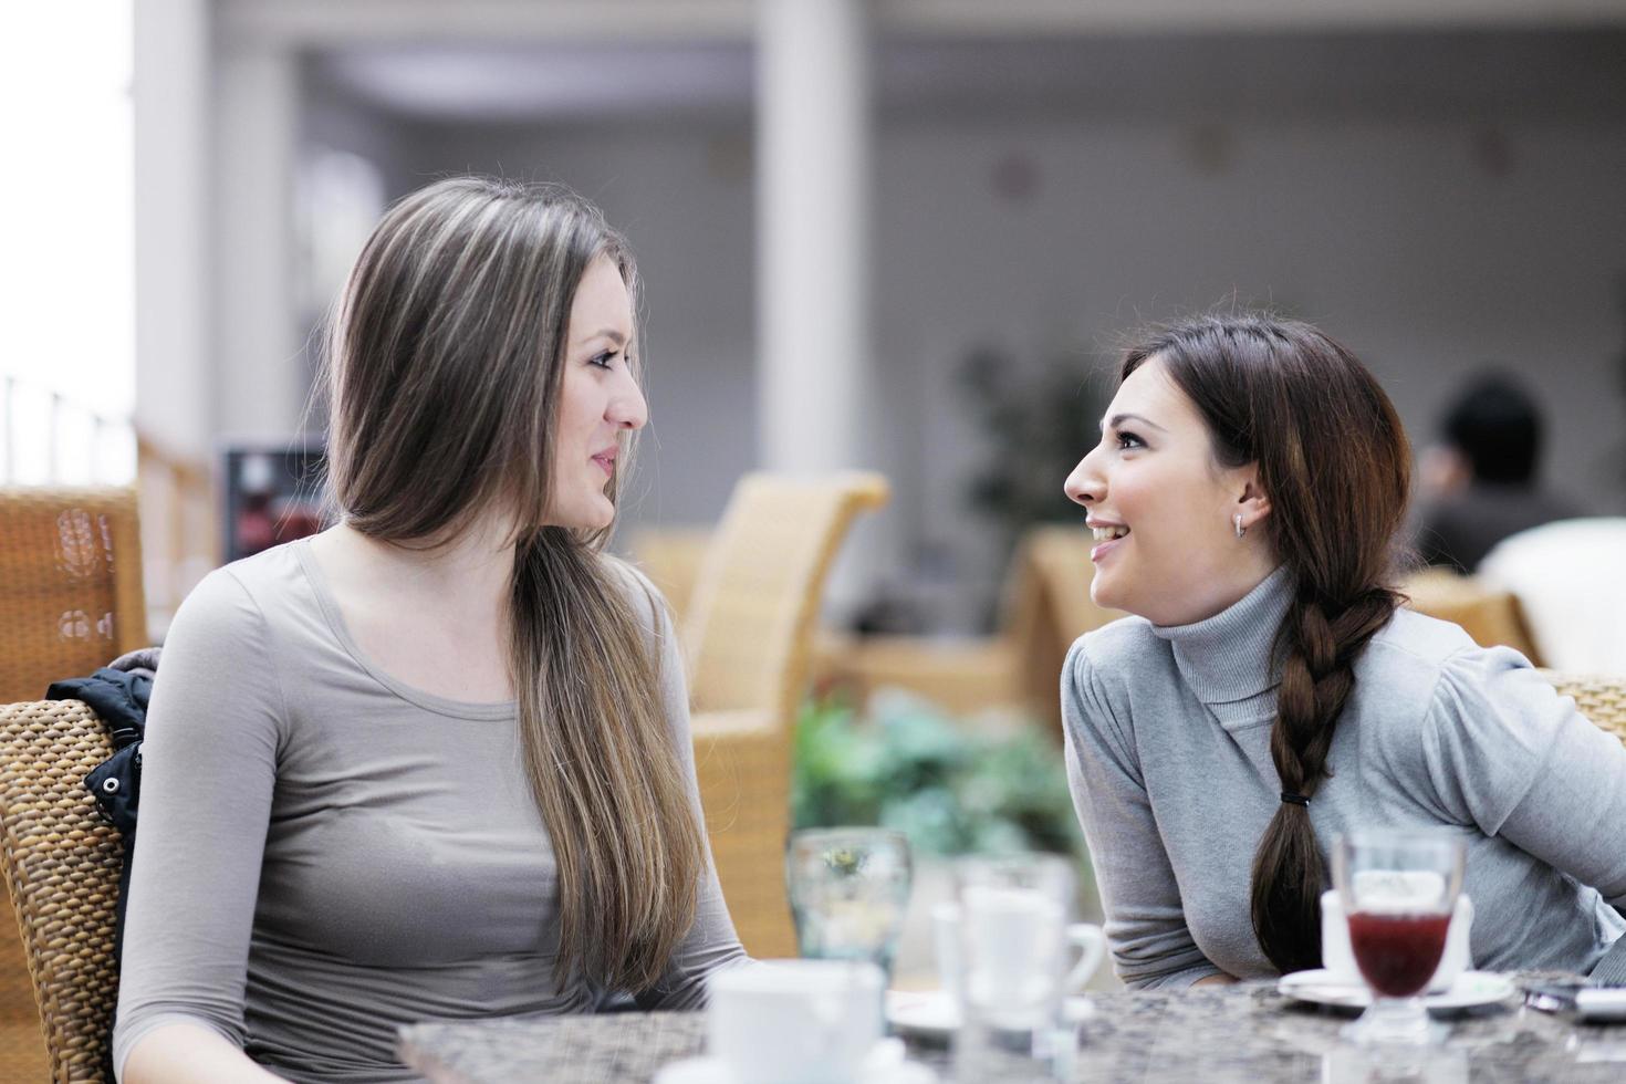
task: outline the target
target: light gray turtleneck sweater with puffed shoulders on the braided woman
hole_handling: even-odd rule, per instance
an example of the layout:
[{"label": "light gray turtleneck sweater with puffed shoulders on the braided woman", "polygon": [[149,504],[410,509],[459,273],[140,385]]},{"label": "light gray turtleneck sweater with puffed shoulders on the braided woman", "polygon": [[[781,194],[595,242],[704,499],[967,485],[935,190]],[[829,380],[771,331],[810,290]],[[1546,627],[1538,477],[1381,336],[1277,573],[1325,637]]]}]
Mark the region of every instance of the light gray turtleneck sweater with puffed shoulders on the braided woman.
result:
[{"label": "light gray turtleneck sweater with puffed shoulders on the braided woman", "polygon": [[[1130,986],[1275,975],[1249,874],[1280,803],[1272,644],[1291,592],[1278,569],[1206,621],[1127,618],[1067,658],[1073,803]],[[1322,855],[1356,827],[1455,829],[1473,965],[1589,970],[1626,930],[1626,748],[1517,652],[1408,609],[1354,676],[1309,808]]]}]

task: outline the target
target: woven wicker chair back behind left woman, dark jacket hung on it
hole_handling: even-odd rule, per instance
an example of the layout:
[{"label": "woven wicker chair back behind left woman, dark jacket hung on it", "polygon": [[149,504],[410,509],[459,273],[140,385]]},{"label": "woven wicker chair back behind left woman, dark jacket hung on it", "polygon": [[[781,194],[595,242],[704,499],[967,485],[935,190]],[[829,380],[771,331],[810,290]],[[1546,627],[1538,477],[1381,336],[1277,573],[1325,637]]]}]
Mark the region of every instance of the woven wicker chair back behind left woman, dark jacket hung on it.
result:
[{"label": "woven wicker chair back behind left woman, dark jacket hung on it", "polygon": [[124,843],[85,775],[112,756],[78,700],[0,707],[0,869],[11,892],[54,1084],[107,1081],[119,999],[114,902]]}]

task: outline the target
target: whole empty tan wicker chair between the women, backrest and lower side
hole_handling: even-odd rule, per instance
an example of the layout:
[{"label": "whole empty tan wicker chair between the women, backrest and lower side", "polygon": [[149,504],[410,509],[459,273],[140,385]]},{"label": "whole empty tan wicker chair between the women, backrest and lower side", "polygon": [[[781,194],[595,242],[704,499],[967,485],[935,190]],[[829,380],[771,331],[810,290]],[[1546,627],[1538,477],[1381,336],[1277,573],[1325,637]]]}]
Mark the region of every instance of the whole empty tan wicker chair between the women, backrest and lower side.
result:
[{"label": "whole empty tan wicker chair between the women, backrest and lower side", "polygon": [[824,577],[880,475],[748,475],[706,553],[683,639],[717,878],[751,956],[795,956],[785,900],[790,746]]}]

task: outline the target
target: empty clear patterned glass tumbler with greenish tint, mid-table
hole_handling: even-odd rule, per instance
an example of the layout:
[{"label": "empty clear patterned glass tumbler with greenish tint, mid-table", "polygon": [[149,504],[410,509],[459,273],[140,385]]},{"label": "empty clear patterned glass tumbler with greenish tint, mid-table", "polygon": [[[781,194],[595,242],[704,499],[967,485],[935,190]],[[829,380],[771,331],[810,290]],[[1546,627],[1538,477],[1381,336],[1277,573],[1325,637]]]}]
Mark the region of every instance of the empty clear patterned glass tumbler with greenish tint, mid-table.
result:
[{"label": "empty clear patterned glass tumbler with greenish tint, mid-table", "polygon": [[909,840],[902,832],[873,827],[792,832],[785,887],[802,956],[870,960],[891,980],[911,876]]}]

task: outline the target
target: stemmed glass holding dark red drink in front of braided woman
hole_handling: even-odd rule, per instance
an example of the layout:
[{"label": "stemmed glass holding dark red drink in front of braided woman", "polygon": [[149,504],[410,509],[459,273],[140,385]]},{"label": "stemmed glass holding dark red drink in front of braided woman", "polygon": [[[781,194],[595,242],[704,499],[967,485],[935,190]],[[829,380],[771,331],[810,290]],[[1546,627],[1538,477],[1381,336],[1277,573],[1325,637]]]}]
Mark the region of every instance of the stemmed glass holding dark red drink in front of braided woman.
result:
[{"label": "stemmed glass holding dark red drink in front of braided woman", "polygon": [[1350,947],[1372,1006],[1345,1029],[1361,1043],[1419,1045],[1444,1029],[1429,1021],[1423,990],[1446,951],[1462,891],[1462,837],[1444,829],[1369,829],[1340,835],[1333,887],[1350,921]]}]

